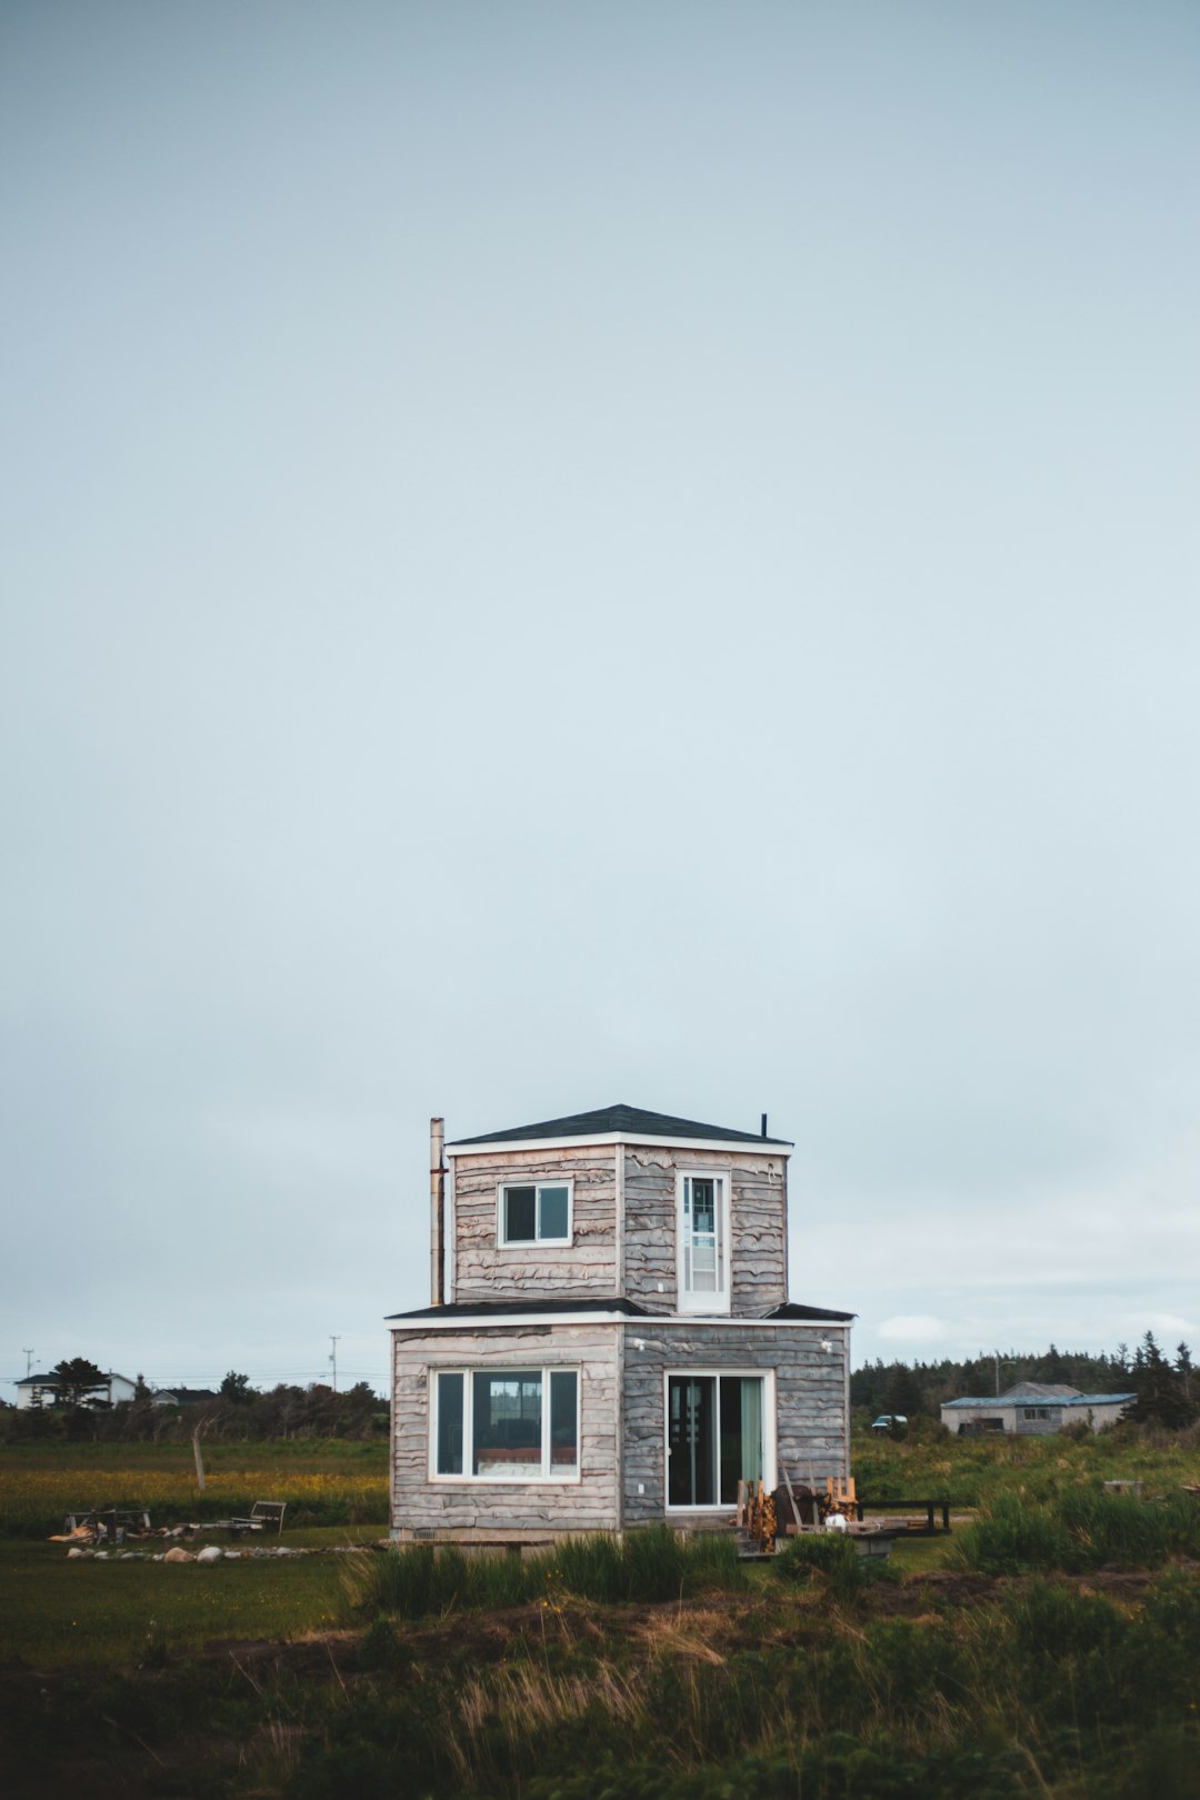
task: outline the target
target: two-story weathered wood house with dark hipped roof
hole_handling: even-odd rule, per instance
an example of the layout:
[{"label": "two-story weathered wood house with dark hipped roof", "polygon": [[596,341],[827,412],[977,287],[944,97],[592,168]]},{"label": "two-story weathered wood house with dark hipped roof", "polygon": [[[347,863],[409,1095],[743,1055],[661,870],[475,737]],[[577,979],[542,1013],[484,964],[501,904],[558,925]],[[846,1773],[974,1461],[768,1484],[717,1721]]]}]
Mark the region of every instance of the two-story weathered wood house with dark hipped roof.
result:
[{"label": "two-story weathered wood house with dark hipped roof", "polygon": [[851,1312],[788,1301],[792,1145],[603,1107],[443,1145],[392,1332],[392,1535],[723,1525],[849,1474]]}]

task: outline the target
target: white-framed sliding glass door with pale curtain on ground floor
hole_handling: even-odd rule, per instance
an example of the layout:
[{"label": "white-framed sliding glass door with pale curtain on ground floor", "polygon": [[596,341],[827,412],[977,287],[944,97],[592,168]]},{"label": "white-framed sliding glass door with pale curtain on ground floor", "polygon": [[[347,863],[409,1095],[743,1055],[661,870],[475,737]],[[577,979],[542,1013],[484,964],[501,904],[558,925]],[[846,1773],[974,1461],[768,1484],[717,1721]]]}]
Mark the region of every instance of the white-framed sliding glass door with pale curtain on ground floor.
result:
[{"label": "white-framed sliding glass door with pale curtain on ground floor", "polygon": [[772,1370],[667,1372],[664,1400],[667,1510],[734,1507],[739,1481],[774,1489]]}]

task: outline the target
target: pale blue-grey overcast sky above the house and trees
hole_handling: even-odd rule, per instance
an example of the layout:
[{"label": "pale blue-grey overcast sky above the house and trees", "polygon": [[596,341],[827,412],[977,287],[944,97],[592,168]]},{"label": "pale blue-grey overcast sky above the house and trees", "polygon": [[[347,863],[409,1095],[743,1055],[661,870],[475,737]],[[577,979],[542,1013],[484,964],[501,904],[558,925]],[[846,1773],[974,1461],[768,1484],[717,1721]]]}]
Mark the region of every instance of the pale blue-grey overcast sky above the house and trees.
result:
[{"label": "pale blue-grey overcast sky above the house and trees", "polygon": [[1200,1336],[1189,0],[0,0],[0,1399],[385,1386],[428,1120]]}]

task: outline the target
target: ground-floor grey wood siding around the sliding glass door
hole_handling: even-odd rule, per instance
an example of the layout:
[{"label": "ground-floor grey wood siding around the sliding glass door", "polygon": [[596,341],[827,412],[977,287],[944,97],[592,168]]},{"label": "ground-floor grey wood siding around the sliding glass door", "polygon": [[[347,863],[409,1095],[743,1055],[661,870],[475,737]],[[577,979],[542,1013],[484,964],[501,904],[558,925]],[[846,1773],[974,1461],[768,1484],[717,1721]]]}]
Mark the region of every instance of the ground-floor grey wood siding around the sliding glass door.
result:
[{"label": "ground-floor grey wood siding around the sliding glass door", "polygon": [[[822,1343],[831,1348],[822,1350]],[[624,1345],[622,1523],[666,1516],[666,1382],[687,1370],[774,1370],[779,1480],[822,1483],[849,1472],[847,1334],[822,1325],[738,1327],[631,1321]],[[642,1489],[642,1492],[639,1492]],[[718,1512],[671,1512],[712,1526]]]}]

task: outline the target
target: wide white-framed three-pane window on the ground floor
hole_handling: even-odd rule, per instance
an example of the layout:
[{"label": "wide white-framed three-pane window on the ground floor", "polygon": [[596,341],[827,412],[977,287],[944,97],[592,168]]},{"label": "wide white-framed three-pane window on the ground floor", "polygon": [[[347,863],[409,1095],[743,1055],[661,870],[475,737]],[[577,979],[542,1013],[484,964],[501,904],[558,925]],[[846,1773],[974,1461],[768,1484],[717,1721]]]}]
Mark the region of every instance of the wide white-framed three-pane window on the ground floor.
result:
[{"label": "wide white-framed three-pane window on the ground floor", "polygon": [[579,1370],[432,1370],[430,1478],[578,1481]]}]

